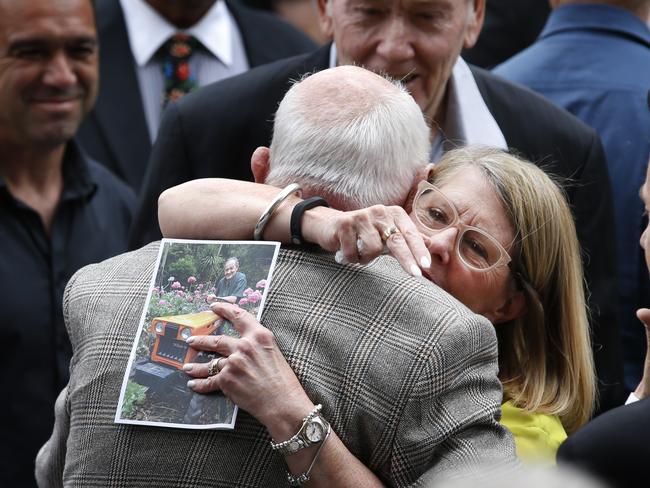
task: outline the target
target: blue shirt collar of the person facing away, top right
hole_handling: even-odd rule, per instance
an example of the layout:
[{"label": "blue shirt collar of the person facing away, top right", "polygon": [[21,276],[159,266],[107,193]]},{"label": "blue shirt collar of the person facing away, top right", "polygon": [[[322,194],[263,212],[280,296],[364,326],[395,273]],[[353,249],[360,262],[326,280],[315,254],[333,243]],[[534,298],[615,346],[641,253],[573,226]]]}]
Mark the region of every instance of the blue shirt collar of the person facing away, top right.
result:
[{"label": "blue shirt collar of the person facing away, top right", "polygon": [[563,5],[554,9],[540,38],[577,29],[625,32],[650,47],[650,29],[639,17],[620,7],[603,4]]}]

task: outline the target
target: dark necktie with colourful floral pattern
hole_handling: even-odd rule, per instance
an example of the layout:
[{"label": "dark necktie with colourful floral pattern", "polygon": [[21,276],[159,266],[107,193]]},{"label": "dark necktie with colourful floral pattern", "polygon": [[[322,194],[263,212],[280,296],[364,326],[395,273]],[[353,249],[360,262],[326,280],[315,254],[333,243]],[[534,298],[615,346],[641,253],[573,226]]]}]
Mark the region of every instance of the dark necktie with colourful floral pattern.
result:
[{"label": "dark necktie with colourful floral pattern", "polygon": [[196,75],[190,72],[189,60],[199,41],[187,34],[175,34],[160,48],[163,55],[162,70],[165,78],[163,106],[178,100],[198,87]]}]

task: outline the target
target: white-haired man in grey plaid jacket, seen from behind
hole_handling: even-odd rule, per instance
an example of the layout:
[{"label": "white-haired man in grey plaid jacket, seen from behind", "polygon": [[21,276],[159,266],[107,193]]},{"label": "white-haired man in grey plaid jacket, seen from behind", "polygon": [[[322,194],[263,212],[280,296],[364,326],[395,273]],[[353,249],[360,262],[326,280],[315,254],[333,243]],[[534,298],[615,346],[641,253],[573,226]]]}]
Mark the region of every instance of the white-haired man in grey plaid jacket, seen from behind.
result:
[{"label": "white-haired man in grey plaid jacket, seen from behind", "polygon": [[[340,208],[397,202],[426,169],[429,130],[418,106],[403,88],[361,68],[326,70],[297,83],[275,123],[271,149],[252,157],[256,178],[299,179],[305,197],[326,195]],[[324,166],[322,153],[336,158]],[[200,184],[195,189],[200,198]],[[204,209],[193,211],[200,217]],[[114,424],[157,251],[153,243],[85,268],[66,290],[75,359],[54,434],[37,460],[41,486],[285,486],[285,460],[294,486],[309,475],[313,486],[371,486],[378,478],[407,486],[480,460],[514,460],[512,439],[497,420],[497,343],[484,317],[389,257],[360,268],[298,248],[280,251],[263,316],[269,330],[232,305],[215,305],[233,314],[224,316],[242,344],[268,346],[274,366],[262,372],[265,384],[290,365],[297,387],[265,396],[245,390],[236,398],[233,432]],[[284,356],[272,346],[274,336]],[[305,448],[276,444],[283,460],[269,441],[290,438],[301,422]]]}]

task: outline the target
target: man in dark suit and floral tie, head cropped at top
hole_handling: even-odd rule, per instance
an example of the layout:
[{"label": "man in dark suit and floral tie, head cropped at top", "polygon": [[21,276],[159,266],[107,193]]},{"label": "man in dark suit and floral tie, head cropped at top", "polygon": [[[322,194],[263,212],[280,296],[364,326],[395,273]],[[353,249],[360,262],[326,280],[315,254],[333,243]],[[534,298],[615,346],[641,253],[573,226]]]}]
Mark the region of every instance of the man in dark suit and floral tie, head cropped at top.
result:
[{"label": "man in dark suit and floral tie, head cropped at top", "polygon": [[[236,1],[96,0],[96,9],[101,83],[95,109],[81,126],[78,140],[91,156],[136,191],[144,178],[162,110],[162,90],[153,94],[153,100],[149,100],[150,93],[143,92],[144,87],[155,90],[156,74],[162,78],[162,66],[150,66],[161,62],[160,51],[166,40],[156,38],[149,19],[158,29],[164,30],[166,23],[172,32],[204,33],[203,39],[197,35],[203,41],[198,48],[203,56],[203,66],[198,66],[203,69],[196,78],[198,85],[315,47],[306,36],[274,15],[246,8]],[[127,12],[132,12],[131,18],[127,18]],[[132,29],[127,29],[129,21]],[[211,24],[206,25],[208,21]],[[225,33],[224,23],[228,26]],[[133,39],[136,35],[142,36],[140,43]],[[156,40],[161,41],[158,48],[151,46]],[[219,47],[217,54],[223,54],[221,58],[210,50],[212,43],[215,50]],[[224,45],[231,46],[231,54]],[[134,48],[151,49],[150,58],[145,62]],[[206,69],[209,63],[215,67]],[[193,67],[193,61],[189,65]]]}]

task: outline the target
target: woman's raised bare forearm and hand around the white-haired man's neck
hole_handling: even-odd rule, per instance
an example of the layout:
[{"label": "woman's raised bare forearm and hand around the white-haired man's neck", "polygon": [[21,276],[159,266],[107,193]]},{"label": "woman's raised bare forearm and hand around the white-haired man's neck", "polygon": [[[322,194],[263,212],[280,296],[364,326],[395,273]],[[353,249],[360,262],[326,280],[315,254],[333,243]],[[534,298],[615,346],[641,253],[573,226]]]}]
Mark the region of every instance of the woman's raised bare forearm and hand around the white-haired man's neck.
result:
[{"label": "woman's raised bare forearm and hand around the white-haired man's neck", "polygon": [[[251,239],[260,215],[280,191],[269,185],[222,178],[189,181],[160,195],[160,229],[165,237]],[[300,201],[291,195],[277,208],[264,229],[264,239],[291,242],[291,212]],[[399,232],[384,245],[382,235],[393,227]],[[430,265],[423,237],[404,209],[397,206],[375,205],[349,212],[315,207],[303,214],[302,234],[307,242],[327,251],[340,250],[341,262],[367,263],[387,249],[414,276],[421,276],[420,267]]]}]

